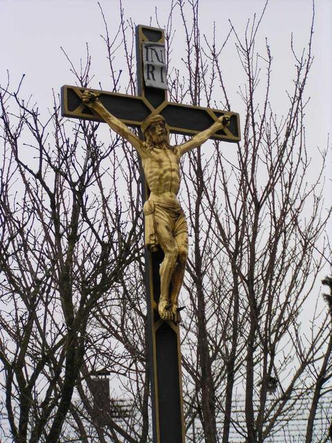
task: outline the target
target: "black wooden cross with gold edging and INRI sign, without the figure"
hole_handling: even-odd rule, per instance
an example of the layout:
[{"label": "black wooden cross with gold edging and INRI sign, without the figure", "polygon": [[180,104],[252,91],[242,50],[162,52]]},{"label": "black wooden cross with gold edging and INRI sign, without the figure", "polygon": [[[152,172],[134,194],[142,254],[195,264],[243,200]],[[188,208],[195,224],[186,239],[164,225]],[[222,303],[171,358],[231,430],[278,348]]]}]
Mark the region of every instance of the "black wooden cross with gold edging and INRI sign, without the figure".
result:
[{"label": "black wooden cross with gold edging and INRI sign, without the figure", "polygon": [[[142,25],[136,27],[136,58],[138,96],[89,89],[113,116],[126,125],[140,128],[147,116],[160,114],[165,118],[169,132],[193,136],[227,114],[230,124],[211,138],[228,142],[240,140],[239,114],[167,101],[163,30]],[[62,115],[103,121],[82,102],[84,90],[74,86],[62,87]],[[145,183],[144,178],[142,183]],[[145,183],[143,203],[148,196]],[[179,327],[161,320],[158,315],[159,266],[163,253],[146,250],[145,260],[153,441],[185,443]]]}]

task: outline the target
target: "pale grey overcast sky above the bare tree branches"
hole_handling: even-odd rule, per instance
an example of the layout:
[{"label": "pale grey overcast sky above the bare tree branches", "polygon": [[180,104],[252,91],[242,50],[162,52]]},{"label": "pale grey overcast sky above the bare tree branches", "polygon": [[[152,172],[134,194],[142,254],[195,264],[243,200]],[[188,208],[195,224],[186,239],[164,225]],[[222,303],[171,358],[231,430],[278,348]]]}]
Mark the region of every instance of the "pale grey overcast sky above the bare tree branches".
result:
[{"label": "pale grey overcast sky above the bare tree branches", "polygon": [[[112,32],[119,22],[119,1],[100,0]],[[260,15],[265,0],[201,0],[201,34],[210,34],[216,21],[220,42],[229,30],[228,19],[243,35],[248,19],[255,12]],[[158,8],[160,24],[167,21],[171,0],[122,0],[127,18],[136,24],[149,24]],[[188,10],[188,17],[190,17]],[[0,0],[1,64],[0,84],[6,84],[10,71],[12,89],[17,87],[21,75],[26,75],[22,95],[38,103],[42,111],[52,106],[52,89],[58,92],[62,84],[73,84],[68,61],[61,46],[76,64],[86,53],[86,42],[92,55],[95,80],[91,87],[108,86],[108,66],[101,33],[104,33],[102,17],[95,0]],[[273,98],[278,113],[286,111],[285,89],[290,88],[295,68],[290,51],[291,33],[295,48],[306,45],[311,25],[311,0],[270,0],[258,35],[257,51],[264,50],[268,38],[273,53]],[[315,61],[308,82],[311,102],[307,109],[306,135],[311,146],[326,146],[332,122],[332,0],[315,1],[315,35],[313,53]],[[176,28],[176,23],[174,23]],[[178,27],[180,28],[180,26]],[[181,30],[176,34],[177,47],[181,43]],[[176,53],[174,53],[176,58]],[[232,111],[241,112],[241,102],[236,91],[243,80],[241,66],[234,46],[230,46],[222,60],[223,73],[228,80],[228,95]],[[111,85],[111,82],[110,82]],[[124,87],[125,85],[122,85]],[[205,103],[202,103],[205,105]],[[243,116],[241,116],[243,118]],[[330,164],[331,166],[331,164]],[[332,167],[331,167],[332,170]]]}]

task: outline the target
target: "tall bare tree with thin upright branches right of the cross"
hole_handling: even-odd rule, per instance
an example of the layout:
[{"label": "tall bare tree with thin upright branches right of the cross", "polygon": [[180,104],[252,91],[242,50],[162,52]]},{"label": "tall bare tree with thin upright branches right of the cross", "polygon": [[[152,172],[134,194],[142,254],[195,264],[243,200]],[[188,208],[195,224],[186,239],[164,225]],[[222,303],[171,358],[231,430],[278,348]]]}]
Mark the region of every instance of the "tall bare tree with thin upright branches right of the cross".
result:
[{"label": "tall bare tree with thin upright branches right of the cross", "polygon": [[[187,424],[198,417],[205,442],[229,442],[231,428],[246,442],[263,442],[297,402],[315,397],[317,380],[322,385],[331,378],[328,318],[315,314],[311,338],[300,329],[301,311],[326,263],[324,246],[320,253],[316,249],[330,215],[322,206],[326,152],[315,181],[308,186],[304,179],[310,171],[304,111],[313,24],[302,54],[291,44],[294,86],[288,113],[277,118],[270,99],[270,48],[255,54],[264,11],[243,37],[230,24],[230,35],[218,47],[215,33],[212,42],[201,41],[198,3],[178,1],[189,85],[181,89],[180,78],[175,79],[173,99],[183,102],[190,96],[194,104],[211,105],[222,95],[232,109],[221,53],[234,39],[244,74],[239,93],[245,113],[237,156],[215,143],[214,150],[202,147],[184,165],[192,226],[187,273],[192,309],[186,328],[192,344],[184,355]],[[258,89],[262,82],[264,96]],[[243,421],[233,413],[237,390],[245,397]]]}]

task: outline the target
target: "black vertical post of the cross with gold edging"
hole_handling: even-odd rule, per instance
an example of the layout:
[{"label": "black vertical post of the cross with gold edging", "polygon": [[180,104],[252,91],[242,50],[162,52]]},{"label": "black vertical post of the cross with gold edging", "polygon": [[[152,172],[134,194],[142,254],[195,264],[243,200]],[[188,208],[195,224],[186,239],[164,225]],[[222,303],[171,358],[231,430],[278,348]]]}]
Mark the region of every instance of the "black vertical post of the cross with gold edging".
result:
[{"label": "black vertical post of the cross with gold edging", "polygon": [[[164,31],[139,25],[136,27],[136,58],[138,95],[144,97],[157,109],[167,102],[167,89],[148,87],[147,80],[165,80],[163,66],[157,69],[143,64],[149,61],[147,42],[165,44]],[[143,46],[145,48],[143,49]],[[161,57],[160,57],[161,58]],[[152,60],[151,60],[152,61]],[[160,62],[160,60],[157,60]],[[152,65],[153,66],[153,65]],[[144,73],[145,70],[145,73]],[[163,76],[163,74],[165,74]],[[149,197],[149,189],[141,168],[143,204]],[[151,406],[154,443],[185,443],[183,418],[180,330],[173,322],[160,320],[158,300],[160,297],[159,268],[163,261],[161,251],[151,253],[145,248],[145,284],[147,297],[147,320],[149,342],[149,370],[151,379]]]}]

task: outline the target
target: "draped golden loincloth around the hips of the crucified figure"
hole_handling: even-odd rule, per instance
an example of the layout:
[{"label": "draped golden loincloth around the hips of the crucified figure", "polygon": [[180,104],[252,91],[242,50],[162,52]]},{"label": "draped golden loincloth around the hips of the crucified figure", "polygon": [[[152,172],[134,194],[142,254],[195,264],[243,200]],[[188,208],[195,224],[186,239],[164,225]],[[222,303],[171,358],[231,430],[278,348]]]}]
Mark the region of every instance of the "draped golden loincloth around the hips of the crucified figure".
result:
[{"label": "draped golden loincloth around the hips of the crucified figure", "polygon": [[173,237],[187,233],[185,213],[178,202],[165,203],[163,201],[147,200],[143,206],[145,215],[145,246],[156,251],[160,245],[158,226],[167,226]]}]

